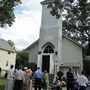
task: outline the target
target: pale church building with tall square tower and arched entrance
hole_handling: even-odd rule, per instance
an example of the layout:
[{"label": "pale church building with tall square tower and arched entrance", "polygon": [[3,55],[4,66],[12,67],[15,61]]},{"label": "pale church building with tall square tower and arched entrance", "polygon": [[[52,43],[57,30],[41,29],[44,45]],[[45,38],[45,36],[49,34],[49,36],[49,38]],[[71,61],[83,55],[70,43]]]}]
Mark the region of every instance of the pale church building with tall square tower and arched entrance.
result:
[{"label": "pale church building with tall square tower and arched entrance", "polygon": [[74,70],[83,69],[82,46],[62,34],[62,18],[50,14],[47,8],[49,0],[41,2],[42,21],[40,36],[27,47],[29,62],[36,63],[42,71],[55,73],[61,69],[64,73],[71,66]]}]

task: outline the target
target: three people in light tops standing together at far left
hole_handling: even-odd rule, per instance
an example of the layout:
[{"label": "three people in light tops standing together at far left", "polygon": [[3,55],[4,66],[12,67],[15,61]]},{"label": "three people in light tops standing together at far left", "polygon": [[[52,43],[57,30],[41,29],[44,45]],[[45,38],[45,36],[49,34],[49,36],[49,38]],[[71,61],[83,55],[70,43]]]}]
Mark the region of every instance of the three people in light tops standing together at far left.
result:
[{"label": "three people in light tops standing together at far left", "polygon": [[7,72],[7,82],[5,85],[5,90],[32,90],[31,84],[32,70],[20,66],[18,69],[14,70],[14,66],[11,65],[10,70]]}]

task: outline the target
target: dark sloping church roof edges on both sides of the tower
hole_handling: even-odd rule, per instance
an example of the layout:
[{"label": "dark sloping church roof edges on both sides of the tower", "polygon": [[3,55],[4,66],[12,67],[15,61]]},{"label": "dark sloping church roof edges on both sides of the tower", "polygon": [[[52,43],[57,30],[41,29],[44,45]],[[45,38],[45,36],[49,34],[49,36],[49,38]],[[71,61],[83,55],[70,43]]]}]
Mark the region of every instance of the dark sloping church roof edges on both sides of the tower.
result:
[{"label": "dark sloping church roof edges on both sides of the tower", "polygon": [[[69,38],[68,36],[63,34],[63,37],[65,37],[66,39],[70,40],[71,42],[73,42],[74,44],[78,45],[81,48],[84,48],[82,45],[80,45],[78,42],[75,42],[74,40],[72,40],[71,38]],[[26,50],[31,49],[34,45],[36,45],[39,42],[39,39],[36,40],[34,43],[32,43],[31,45],[29,45]]]}]

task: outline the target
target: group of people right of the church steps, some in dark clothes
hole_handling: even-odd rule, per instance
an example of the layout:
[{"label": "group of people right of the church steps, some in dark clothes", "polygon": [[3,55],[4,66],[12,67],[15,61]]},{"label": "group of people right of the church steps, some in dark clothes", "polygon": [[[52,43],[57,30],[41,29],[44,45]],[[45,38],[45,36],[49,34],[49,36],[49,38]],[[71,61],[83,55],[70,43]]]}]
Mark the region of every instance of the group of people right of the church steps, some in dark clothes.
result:
[{"label": "group of people right of the church steps, some in dark clothes", "polygon": [[69,71],[66,73],[66,81],[63,79],[63,76],[64,74],[62,71],[57,73],[55,79],[56,87],[54,90],[62,90],[62,84],[66,84],[66,90],[86,90],[88,79],[85,76],[85,71],[82,71],[81,74],[78,74],[77,71],[73,72],[72,67],[70,67]]}]

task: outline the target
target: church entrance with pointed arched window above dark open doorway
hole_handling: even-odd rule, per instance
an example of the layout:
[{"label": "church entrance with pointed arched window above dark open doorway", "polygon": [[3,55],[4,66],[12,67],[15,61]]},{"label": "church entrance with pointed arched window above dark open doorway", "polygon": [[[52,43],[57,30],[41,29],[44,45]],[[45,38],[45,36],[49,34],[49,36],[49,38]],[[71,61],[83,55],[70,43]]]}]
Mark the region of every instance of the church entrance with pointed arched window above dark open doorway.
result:
[{"label": "church entrance with pointed arched window above dark open doorway", "polygon": [[43,47],[43,54],[42,54],[42,71],[47,70],[48,73],[51,72],[53,68],[53,59],[52,56],[54,54],[54,46],[51,43],[46,43]]}]

